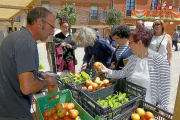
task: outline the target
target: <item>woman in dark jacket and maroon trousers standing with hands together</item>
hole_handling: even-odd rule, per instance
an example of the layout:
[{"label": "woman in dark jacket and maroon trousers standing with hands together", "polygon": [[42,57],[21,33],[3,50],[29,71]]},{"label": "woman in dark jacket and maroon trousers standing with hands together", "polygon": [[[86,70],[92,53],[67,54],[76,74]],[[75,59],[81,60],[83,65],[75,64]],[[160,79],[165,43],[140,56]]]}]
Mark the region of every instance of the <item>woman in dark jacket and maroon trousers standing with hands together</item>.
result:
[{"label": "woman in dark jacket and maroon trousers standing with hands together", "polygon": [[[69,70],[73,74],[75,74],[74,50],[77,47],[75,42],[72,41],[72,36],[69,34],[69,20],[66,17],[60,17],[60,29],[61,32],[56,34],[54,38],[55,43],[60,43],[60,44],[56,44],[57,71],[61,72],[62,70]],[[62,49],[63,49],[63,60],[61,58]]]}]

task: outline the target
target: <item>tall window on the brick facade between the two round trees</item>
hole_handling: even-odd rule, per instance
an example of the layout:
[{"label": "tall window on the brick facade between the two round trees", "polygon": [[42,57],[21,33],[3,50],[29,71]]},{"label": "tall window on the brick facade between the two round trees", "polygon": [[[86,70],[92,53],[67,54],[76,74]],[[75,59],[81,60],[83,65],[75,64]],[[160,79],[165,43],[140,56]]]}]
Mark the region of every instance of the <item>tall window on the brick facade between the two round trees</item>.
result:
[{"label": "tall window on the brick facade between the two round trees", "polygon": [[98,5],[91,4],[91,20],[98,20]]}]

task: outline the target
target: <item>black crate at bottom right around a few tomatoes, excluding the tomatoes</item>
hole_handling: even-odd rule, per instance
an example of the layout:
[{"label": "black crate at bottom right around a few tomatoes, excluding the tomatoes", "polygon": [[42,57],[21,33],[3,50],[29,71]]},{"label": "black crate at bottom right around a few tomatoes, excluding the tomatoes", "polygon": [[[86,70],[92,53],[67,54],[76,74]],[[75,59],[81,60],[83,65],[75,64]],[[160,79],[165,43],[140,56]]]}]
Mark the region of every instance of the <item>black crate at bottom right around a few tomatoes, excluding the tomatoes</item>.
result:
[{"label": "black crate at bottom right around a few tomatoes, excluding the tomatoes", "polygon": [[172,120],[173,118],[172,113],[164,111],[143,100],[138,100],[133,108],[121,115],[120,120],[131,120],[131,115],[136,112],[137,108],[143,108],[145,111],[150,111],[156,120]]}]

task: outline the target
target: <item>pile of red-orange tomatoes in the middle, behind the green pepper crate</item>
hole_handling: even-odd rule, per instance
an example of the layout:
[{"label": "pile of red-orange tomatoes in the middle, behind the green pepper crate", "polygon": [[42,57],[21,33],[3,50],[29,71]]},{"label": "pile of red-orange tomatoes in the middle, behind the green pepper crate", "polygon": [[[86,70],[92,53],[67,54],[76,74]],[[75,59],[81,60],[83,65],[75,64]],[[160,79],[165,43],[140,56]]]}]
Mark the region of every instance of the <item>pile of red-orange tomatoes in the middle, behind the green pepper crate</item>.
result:
[{"label": "pile of red-orange tomatoes in the middle, behind the green pepper crate", "polygon": [[99,89],[103,89],[110,85],[112,85],[112,83],[109,83],[108,79],[104,79],[101,81],[99,77],[96,77],[94,82],[92,80],[86,80],[86,86],[82,87],[82,89],[93,92]]}]

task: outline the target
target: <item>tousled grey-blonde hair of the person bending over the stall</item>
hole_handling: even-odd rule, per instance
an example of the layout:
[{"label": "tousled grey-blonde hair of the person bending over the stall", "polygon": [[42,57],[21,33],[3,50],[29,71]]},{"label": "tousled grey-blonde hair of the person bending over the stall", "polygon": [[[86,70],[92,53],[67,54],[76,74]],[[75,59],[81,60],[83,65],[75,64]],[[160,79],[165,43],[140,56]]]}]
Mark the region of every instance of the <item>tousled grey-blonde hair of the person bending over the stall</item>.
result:
[{"label": "tousled grey-blonde hair of the person bending over the stall", "polygon": [[73,34],[73,41],[79,47],[93,46],[97,41],[97,35],[94,30],[87,27],[81,27]]}]

